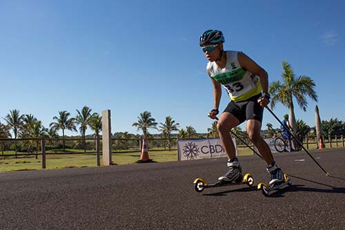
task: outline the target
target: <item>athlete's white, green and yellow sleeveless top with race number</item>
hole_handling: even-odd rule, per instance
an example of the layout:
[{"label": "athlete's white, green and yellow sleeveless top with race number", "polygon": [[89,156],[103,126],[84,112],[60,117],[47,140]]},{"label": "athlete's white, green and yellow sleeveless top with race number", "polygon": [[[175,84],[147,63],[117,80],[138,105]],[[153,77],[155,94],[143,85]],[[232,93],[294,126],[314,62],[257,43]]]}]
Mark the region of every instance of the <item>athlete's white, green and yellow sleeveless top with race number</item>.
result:
[{"label": "athlete's white, green and yellow sleeveless top with race number", "polygon": [[215,61],[208,62],[207,70],[210,77],[226,88],[230,99],[241,102],[262,91],[260,77],[250,73],[239,65],[238,51],[226,52],[226,67],[218,68]]}]

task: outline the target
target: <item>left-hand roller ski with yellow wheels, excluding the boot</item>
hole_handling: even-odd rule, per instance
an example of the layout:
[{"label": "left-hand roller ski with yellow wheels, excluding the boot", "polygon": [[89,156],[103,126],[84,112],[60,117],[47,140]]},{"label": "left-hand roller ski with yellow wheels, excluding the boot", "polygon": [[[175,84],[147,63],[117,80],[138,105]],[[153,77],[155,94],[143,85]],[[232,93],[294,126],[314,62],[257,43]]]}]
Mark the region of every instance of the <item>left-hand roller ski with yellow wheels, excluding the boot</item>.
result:
[{"label": "left-hand roller ski with yellow wheels, excluding the boot", "polygon": [[214,188],[214,187],[221,187],[221,186],[230,186],[230,185],[236,185],[236,184],[247,184],[248,186],[253,186],[254,184],[254,178],[250,173],[246,173],[244,175],[243,179],[239,182],[222,182],[217,181],[213,184],[208,184],[203,178],[197,178],[194,180],[194,188],[195,191],[198,193],[201,193],[206,188]]}]

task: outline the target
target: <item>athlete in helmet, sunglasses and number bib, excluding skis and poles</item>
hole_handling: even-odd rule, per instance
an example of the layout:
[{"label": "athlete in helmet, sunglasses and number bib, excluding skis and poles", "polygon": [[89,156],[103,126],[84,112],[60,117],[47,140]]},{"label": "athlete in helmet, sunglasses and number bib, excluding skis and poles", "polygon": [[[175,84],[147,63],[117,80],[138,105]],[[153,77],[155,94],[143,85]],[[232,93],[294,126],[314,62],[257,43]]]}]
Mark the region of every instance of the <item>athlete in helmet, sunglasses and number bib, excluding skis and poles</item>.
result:
[{"label": "athlete in helmet, sunglasses and number bib, excluding skis and poles", "polygon": [[219,30],[206,30],[199,40],[199,45],[208,59],[206,72],[213,83],[215,107],[208,116],[217,118],[221,86],[226,88],[231,99],[217,124],[219,137],[228,157],[228,171],[218,180],[234,182],[243,178],[230,131],[247,121],[246,132],[268,164],[270,184],[279,184],[284,180],[284,173],[275,163],[268,144],[260,135],[264,106],[270,102],[268,74],[244,52],[224,50],[224,41],[224,35]]}]

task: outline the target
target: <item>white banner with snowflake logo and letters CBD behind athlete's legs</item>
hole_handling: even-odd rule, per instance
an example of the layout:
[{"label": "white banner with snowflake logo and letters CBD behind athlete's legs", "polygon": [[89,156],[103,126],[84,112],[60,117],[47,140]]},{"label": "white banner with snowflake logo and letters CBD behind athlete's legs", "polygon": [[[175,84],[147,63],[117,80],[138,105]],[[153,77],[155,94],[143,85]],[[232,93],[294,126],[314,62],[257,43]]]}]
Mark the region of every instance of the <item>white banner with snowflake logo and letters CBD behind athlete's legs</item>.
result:
[{"label": "white banner with snowflake logo and letters CBD behind athlete's legs", "polygon": [[[237,146],[235,138],[236,155]],[[224,157],[226,153],[219,138],[198,139],[198,140],[179,140],[177,142],[177,154],[179,160],[196,160],[202,158]]]}]

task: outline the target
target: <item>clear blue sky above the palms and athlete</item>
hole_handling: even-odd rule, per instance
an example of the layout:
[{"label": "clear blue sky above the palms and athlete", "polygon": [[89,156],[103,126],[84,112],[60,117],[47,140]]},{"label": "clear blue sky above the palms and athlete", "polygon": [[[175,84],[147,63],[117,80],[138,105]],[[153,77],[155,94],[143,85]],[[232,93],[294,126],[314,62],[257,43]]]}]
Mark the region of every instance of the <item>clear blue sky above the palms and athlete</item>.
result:
[{"label": "clear blue sky above the palms and athlete", "polygon": [[[137,133],[144,111],[206,133],[213,86],[198,42],[216,28],[226,50],[245,52],[270,81],[281,79],[282,60],[314,79],[319,101],[309,99],[306,112],[296,104],[297,119],[314,126],[317,104],[323,120],[344,121],[344,8],[341,0],[0,0],[0,117],[16,108],[48,127],[59,111],[89,106],[110,109],[113,133]],[[221,110],[228,102],[223,90]],[[266,112],[268,122],[279,126]]]}]

